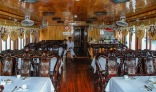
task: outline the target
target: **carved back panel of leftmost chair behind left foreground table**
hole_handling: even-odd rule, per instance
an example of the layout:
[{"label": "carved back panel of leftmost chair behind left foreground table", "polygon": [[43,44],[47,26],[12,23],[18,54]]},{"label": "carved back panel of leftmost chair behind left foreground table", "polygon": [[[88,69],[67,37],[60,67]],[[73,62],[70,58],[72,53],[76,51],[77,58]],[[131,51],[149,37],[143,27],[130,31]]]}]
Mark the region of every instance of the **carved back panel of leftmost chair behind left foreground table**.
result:
[{"label": "carved back panel of leftmost chair behind left foreground table", "polygon": [[13,62],[11,57],[4,57],[3,59],[3,75],[4,76],[12,76],[12,68],[13,68]]}]

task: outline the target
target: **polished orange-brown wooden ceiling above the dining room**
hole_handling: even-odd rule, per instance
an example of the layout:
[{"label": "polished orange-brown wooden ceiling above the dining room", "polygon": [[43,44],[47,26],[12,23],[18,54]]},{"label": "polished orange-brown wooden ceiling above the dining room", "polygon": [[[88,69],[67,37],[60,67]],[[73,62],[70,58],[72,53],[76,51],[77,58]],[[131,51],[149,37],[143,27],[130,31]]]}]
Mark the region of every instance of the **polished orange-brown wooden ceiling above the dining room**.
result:
[{"label": "polished orange-brown wooden ceiling above the dining room", "polygon": [[[53,16],[46,16],[49,23],[56,23],[53,17],[60,17],[63,21],[87,21],[97,17],[98,21],[115,21],[121,15],[126,15],[128,21],[137,18],[156,17],[156,0],[130,0],[128,3],[115,4],[111,0],[40,0],[33,4],[20,3],[19,0],[0,0],[0,18],[22,21],[27,11],[31,12],[31,19],[37,25],[41,24],[43,12],[55,12]],[[128,7],[129,6],[129,7]],[[94,12],[107,12],[97,16]],[[74,18],[74,16],[77,18]]]}]

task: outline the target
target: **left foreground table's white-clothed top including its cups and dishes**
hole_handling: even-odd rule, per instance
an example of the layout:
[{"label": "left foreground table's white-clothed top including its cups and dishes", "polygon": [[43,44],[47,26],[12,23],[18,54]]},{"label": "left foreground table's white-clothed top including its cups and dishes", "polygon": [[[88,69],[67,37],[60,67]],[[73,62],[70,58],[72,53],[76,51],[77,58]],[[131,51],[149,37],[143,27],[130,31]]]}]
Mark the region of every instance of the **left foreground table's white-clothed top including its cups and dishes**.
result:
[{"label": "left foreground table's white-clothed top including its cups and dishes", "polygon": [[49,77],[0,76],[0,92],[54,92]]}]

